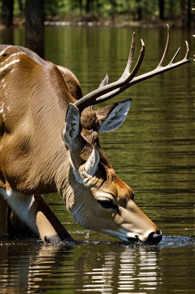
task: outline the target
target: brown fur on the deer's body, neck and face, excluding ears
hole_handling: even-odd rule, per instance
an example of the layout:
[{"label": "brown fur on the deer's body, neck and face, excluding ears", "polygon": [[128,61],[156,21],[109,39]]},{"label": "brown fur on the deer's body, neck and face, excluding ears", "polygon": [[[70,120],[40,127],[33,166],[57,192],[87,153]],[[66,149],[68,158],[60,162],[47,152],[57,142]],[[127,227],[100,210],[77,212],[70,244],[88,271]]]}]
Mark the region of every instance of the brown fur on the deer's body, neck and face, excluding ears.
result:
[{"label": "brown fur on the deer's body, neck and face, excluding ears", "polygon": [[[5,48],[0,46],[1,52]],[[75,219],[87,228],[120,232],[128,231],[132,223],[131,228],[144,232],[143,240],[148,232],[158,232],[132,201],[132,190],[117,178],[100,149],[95,176],[89,177],[85,185],[75,180],[70,151],[61,135],[69,103],[82,97],[74,74],[17,46],[6,48],[0,55],[0,64],[0,188],[26,196],[58,191]],[[97,128],[111,108],[105,108],[105,114],[96,113],[93,107],[81,113],[84,140],[72,152],[81,178],[94,144],[100,148]],[[117,211],[109,209],[105,213],[99,203],[101,193],[112,195],[113,203],[119,207]],[[42,240],[45,236],[53,242],[65,239],[58,238],[67,232],[41,196],[35,196],[29,213]]]}]

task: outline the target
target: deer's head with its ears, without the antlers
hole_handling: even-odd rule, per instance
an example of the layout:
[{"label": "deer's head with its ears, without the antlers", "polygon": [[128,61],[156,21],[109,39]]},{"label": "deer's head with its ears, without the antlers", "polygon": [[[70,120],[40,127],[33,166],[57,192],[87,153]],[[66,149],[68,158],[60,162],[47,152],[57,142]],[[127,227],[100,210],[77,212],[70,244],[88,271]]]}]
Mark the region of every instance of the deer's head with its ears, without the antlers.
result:
[{"label": "deer's head with its ears, without the antlers", "polygon": [[134,203],[132,189],[116,176],[100,150],[97,136],[97,131],[110,131],[120,126],[130,103],[128,99],[96,112],[91,110],[91,115],[86,112],[81,118],[76,106],[70,104],[63,139],[70,149],[75,179],[66,205],[84,228],[127,242],[154,244],[162,239],[160,230]]}]

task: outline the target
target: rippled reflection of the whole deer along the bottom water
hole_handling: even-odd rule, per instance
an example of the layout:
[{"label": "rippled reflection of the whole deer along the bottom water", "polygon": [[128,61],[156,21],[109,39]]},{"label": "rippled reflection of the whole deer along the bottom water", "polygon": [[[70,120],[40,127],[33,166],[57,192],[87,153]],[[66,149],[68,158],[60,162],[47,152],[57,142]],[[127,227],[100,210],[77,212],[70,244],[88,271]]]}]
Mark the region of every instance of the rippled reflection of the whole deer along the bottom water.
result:
[{"label": "rippled reflection of the whole deer along the bottom water", "polygon": [[1,244],[0,293],[43,293],[48,287],[55,293],[64,287],[102,294],[145,293],[160,283],[158,250],[114,243]]}]

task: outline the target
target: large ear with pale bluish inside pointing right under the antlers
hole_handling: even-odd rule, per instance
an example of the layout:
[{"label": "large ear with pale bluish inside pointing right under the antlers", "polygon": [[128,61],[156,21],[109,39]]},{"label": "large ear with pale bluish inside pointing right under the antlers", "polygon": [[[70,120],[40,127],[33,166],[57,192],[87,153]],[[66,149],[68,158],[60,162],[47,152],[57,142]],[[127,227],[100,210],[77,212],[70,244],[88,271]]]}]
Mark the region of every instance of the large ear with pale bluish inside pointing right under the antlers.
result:
[{"label": "large ear with pale bluish inside pointing right under the antlers", "polygon": [[95,111],[99,120],[98,132],[109,132],[118,128],[124,121],[131,105],[131,98],[119,103],[104,106]]}]

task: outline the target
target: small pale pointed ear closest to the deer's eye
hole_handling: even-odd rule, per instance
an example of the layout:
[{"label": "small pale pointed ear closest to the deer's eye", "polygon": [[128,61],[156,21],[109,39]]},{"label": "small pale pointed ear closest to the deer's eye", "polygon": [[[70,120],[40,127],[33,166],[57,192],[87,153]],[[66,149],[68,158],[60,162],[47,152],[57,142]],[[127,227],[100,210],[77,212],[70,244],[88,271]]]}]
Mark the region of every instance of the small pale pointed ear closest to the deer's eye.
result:
[{"label": "small pale pointed ear closest to the deer's eye", "polygon": [[100,153],[98,147],[95,145],[93,151],[85,163],[85,171],[88,175],[94,176],[99,170]]}]

